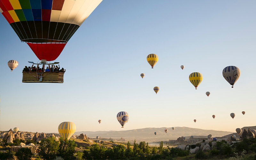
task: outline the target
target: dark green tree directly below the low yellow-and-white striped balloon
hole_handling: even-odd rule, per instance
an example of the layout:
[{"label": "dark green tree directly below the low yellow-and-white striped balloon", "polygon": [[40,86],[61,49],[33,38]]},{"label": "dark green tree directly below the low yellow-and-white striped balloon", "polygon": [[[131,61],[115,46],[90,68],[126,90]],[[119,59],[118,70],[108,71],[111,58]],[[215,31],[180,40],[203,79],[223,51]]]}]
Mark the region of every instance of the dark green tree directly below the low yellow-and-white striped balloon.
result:
[{"label": "dark green tree directly below the low yellow-and-white striped balloon", "polygon": [[74,140],[64,140],[62,137],[59,139],[60,145],[57,156],[61,156],[63,159],[76,159],[74,156],[76,144]]}]

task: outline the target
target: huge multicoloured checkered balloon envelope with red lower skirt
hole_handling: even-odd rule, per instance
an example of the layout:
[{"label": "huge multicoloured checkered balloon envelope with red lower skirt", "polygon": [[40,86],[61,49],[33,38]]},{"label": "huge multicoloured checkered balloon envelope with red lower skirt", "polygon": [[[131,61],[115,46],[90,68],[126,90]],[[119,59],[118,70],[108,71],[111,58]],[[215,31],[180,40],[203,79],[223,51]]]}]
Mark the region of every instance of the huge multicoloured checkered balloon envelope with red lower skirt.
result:
[{"label": "huge multicoloured checkered balloon envelope with red lower skirt", "polygon": [[55,60],[102,0],[1,0],[1,13],[39,60]]}]

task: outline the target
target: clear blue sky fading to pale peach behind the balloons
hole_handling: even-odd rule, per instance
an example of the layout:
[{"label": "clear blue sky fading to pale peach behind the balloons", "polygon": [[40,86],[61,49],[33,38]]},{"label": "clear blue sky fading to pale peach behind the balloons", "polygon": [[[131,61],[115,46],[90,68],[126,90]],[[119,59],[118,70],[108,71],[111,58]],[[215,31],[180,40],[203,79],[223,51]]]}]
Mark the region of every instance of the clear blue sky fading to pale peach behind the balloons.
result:
[{"label": "clear blue sky fading to pale peach behind the balloons", "polygon": [[[66,69],[63,84],[22,83],[22,69],[38,59],[1,15],[0,130],[58,132],[64,121],[77,132],[255,126],[255,6],[254,0],[103,0],[55,60]],[[159,58],[153,69],[150,53]],[[13,72],[9,60],[19,62]],[[230,65],[241,71],[234,88],[222,76]],[[192,72],[203,75],[197,90],[188,80]],[[130,115],[124,128],[120,111]]]}]

